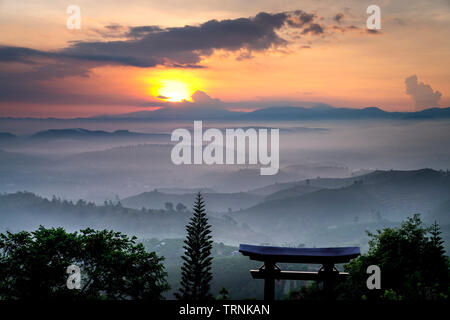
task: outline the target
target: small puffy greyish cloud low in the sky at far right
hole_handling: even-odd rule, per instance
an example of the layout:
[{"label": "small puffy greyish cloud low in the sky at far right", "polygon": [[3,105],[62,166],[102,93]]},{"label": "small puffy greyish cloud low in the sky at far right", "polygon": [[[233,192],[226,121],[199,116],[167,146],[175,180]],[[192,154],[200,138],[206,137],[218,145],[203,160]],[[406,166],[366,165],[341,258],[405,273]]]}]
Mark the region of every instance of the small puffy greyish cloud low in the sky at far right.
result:
[{"label": "small puffy greyish cloud low in the sky at far right", "polygon": [[429,84],[418,82],[417,76],[412,75],[405,79],[406,94],[413,98],[417,109],[439,106],[442,94],[434,91]]}]

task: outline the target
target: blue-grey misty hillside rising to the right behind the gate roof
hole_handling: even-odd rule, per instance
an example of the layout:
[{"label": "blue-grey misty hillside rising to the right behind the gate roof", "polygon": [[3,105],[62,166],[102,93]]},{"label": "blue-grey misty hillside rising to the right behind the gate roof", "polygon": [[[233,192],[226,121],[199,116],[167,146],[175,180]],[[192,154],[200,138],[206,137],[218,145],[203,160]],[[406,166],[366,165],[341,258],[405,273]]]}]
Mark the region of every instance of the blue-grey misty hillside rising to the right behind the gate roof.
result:
[{"label": "blue-grey misty hillside rising to the right behind the gate roof", "polygon": [[[303,193],[324,180],[324,185],[344,186]],[[269,235],[352,222],[400,221],[414,213],[430,221],[431,211],[450,194],[448,172],[431,169],[375,171],[357,178],[314,179],[309,183],[278,191],[232,217]]]}]

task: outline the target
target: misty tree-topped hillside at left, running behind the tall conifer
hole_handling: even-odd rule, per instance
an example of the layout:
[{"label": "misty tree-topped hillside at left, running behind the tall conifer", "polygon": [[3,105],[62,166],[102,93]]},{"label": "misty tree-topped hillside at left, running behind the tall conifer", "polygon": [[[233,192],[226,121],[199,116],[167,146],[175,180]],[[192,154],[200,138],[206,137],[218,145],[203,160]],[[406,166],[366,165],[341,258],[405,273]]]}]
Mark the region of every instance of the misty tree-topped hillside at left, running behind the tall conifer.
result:
[{"label": "misty tree-topped hillside at left, running behind the tall conifer", "polygon": [[[40,225],[62,226],[75,231],[83,228],[114,229],[142,238],[184,238],[191,212],[136,210],[121,203],[76,202],[39,197],[29,192],[0,195],[0,232],[33,230]],[[230,217],[209,218],[216,241],[236,244],[242,241],[264,242],[267,237],[238,225]]]}]

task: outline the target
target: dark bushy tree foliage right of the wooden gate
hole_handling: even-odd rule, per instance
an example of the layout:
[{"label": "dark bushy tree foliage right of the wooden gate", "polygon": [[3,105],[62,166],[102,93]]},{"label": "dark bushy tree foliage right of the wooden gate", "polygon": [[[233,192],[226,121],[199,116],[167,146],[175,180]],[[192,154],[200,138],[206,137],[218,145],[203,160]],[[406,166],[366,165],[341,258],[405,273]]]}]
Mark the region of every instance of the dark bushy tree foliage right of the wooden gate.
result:
[{"label": "dark bushy tree foliage right of the wooden gate", "polygon": [[[449,262],[439,226],[425,227],[418,214],[399,228],[368,233],[369,251],[346,265],[337,291],[344,299],[418,300],[448,298]],[[368,290],[367,267],[381,269],[381,290]]]}]

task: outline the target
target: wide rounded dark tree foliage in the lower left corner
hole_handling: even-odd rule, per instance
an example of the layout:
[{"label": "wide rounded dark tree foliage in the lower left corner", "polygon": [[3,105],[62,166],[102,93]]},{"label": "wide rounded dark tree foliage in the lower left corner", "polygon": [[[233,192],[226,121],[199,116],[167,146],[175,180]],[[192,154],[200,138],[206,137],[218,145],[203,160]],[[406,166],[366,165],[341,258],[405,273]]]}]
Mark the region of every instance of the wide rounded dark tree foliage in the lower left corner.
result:
[{"label": "wide rounded dark tree foliage in the lower left corner", "polygon": [[[81,269],[79,290],[66,285],[72,264]],[[120,232],[0,234],[0,299],[160,299],[165,277],[162,258]]]}]

